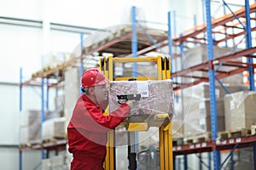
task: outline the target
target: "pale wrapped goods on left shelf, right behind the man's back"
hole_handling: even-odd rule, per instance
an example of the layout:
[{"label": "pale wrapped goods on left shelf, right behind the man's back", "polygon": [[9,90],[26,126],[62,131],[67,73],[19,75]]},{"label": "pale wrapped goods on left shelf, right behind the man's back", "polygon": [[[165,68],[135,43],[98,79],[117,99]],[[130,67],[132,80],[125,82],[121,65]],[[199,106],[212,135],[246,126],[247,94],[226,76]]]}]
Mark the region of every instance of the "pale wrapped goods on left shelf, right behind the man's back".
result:
[{"label": "pale wrapped goods on left shelf, right behind the man's back", "polygon": [[65,117],[56,117],[42,124],[42,139],[65,139],[67,137]]}]

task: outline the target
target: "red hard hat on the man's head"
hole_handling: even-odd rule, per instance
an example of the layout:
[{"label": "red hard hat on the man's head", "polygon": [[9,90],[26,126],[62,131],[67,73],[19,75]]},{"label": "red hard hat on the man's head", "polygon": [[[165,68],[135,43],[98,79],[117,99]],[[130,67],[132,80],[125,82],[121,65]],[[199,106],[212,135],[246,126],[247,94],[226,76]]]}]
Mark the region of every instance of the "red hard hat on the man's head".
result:
[{"label": "red hard hat on the man's head", "polygon": [[108,78],[104,77],[101,71],[96,68],[84,71],[81,79],[82,88],[90,88],[98,85],[103,85],[109,82]]}]

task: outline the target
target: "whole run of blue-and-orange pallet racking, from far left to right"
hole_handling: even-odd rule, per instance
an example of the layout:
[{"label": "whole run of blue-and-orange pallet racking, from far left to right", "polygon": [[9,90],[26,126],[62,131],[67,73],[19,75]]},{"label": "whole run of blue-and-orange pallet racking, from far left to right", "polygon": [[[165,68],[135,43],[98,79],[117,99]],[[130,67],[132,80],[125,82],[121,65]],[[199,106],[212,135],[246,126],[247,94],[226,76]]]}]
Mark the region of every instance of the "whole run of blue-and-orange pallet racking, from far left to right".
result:
[{"label": "whole run of blue-and-orange pallet racking, from far left to right", "polygon": [[[227,5],[226,3],[224,3]],[[250,19],[249,14],[255,13],[256,10],[256,4],[249,6],[248,1],[245,1],[245,8],[241,8],[240,10],[237,10],[236,12],[232,12],[232,14],[225,14],[223,17],[220,17],[215,20],[211,20],[211,8],[210,8],[210,2],[206,1],[206,12],[207,12],[207,24],[201,25],[201,26],[195,26],[195,28],[190,29],[189,31],[183,32],[183,35],[180,37],[174,37],[172,38],[172,32],[171,32],[171,25],[168,24],[168,37],[164,34],[159,33],[147,33],[147,31],[141,31],[137,32],[137,29],[134,27],[133,29],[126,29],[123,31],[120,31],[119,35],[113,35],[113,39],[105,39],[102,40],[102,42],[99,42],[96,47],[89,47],[86,48],[86,50],[83,51],[83,54],[78,57],[70,60],[70,62],[67,62],[63,65],[60,65],[54,69],[50,69],[49,71],[44,71],[42,74],[39,74],[37,77],[33,77],[31,80],[27,82],[22,82],[22,79],[20,78],[20,94],[21,94],[21,87],[23,85],[41,85],[41,87],[44,87],[44,78],[48,78],[52,73],[55,73],[56,71],[63,70],[67,65],[72,65],[75,62],[79,62],[81,59],[84,59],[85,55],[90,55],[95,52],[98,52],[100,54],[102,53],[113,53],[118,56],[125,55],[125,54],[133,54],[133,56],[137,56],[138,54],[145,54],[150,51],[154,51],[156,48],[164,47],[166,45],[169,45],[169,47],[172,47],[172,42],[177,43],[181,48],[183,46],[183,43],[185,42],[193,42],[193,43],[203,43],[208,45],[208,54],[209,54],[209,61],[206,63],[202,63],[200,65],[195,65],[194,67],[190,67],[188,69],[184,69],[182,71],[176,71],[172,72],[172,77],[188,77],[188,73],[193,71],[203,71],[203,72],[209,72],[209,77],[193,77],[196,79],[195,82],[192,83],[181,83],[177,82],[175,90],[188,88],[190,86],[194,86],[195,84],[198,84],[200,82],[211,82],[211,114],[212,114],[212,141],[210,142],[202,142],[197,144],[182,144],[177,145],[173,148],[173,155],[184,155],[191,153],[200,153],[200,152],[212,152],[213,151],[213,162],[214,162],[214,169],[219,169],[219,167],[222,166],[220,164],[220,158],[219,158],[219,150],[226,150],[226,149],[232,149],[235,150],[239,147],[247,147],[247,146],[253,146],[254,151],[254,167],[255,166],[255,150],[256,150],[256,139],[255,136],[247,136],[247,137],[239,137],[239,138],[232,138],[232,139],[224,139],[224,140],[217,140],[217,132],[218,129],[216,129],[216,109],[215,109],[215,94],[214,94],[214,79],[221,79],[224,77],[229,77],[230,75],[242,72],[242,71],[249,71],[249,82],[250,82],[250,90],[254,90],[254,79],[253,79],[253,69],[255,68],[255,65],[253,64],[253,58],[255,56],[253,55],[256,52],[256,48],[252,47],[252,37],[250,36],[251,31],[256,31],[256,28],[251,28],[250,22],[248,20]],[[133,24],[132,26],[136,26],[138,20],[135,19],[135,7],[133,7]],[[171,14],[168,15],[169,21],[171,20]],[[239,21],[241,18],[246,19],[245,21]],[[238,23],[243,26],[244,23],[246,23],[246,26],[241,27],[239,24],[232,24],[230,25],[230,21],[238,20]],[[253,20],[253,19],[252,19]],[[230,32],[227,33],[228,30],[241,30],[239,33],[233,33]],[[235,32],[235,31],[234,31]],[[237,31],[236,31],[237,32]],[[165,32],[166,33],[166,32]],[[220,39],[212,40],[212,33],[215,35],[219,34],[223,37]],[[139,36],[137,36],[139,35]],[[207,35],[207,38],[205,37]],[[213,59],[213,53],[212,53],[212,46],[217,45],[221,42],[227,42],[229,40],[234,40],[235,37],[241,37],[244,36],[247,39],[247,47],[239,52],[232,53],[225,55],[223,57],[220,57],[218,59]],[[148,41],[147,39],[143,37],[148,37],[148,39],[154,39],[155,42]],[[218,36],[216,36],[218,37]],[[139,39],[143,38],[143,39]],[[167,40],[172,39],[172,41]],[[133,43],[127,41],[132,40]],[[142,44],[137,44],[138,42],[147,42]],[[119,43],[120,42],[120,43]],[[124,44],[125,42],[125,44]],[[235,45],[235,43],[234,43]],[[138,47],[138,48],[135,48]],[[122,48],[123,50],[119,50]],[[181,54],[183,51],[181,50]],[[172,57],[172,48],[170,48],[169,54]],[[241,62],[235,62],[232,61],[232,59],[241,58],[241,57],[247,57],[248,62],[247,63],[241,63]],[[214,66],[216,65],[221,66],[230,66],[232,69],[230,71],[214,71]],[[21,74],[20,74],[21,75]],[[189,77],[191,77],[189,75]],[[39,81],[39,82],[38,82]],[[41,81],[41,82],[40,82]],[[218,81],[220,82],[220,81]],[[221,83],[221,82],[220,82]],[[47,86],[49,87],[59,87],[61,83],[57,82],[55,84],[49,83]],[[44,94],[44,88],[42,88],[42,94]],[[42,95],[43,96],[43,95]],[[21,100],[20,100],[21,101]],[[42,99],[42,108],[44,108],[44,98]],[[44,115],[44,109],[42,110],[42,115]],[[44,119],[43,119],[44,120]],[[58,145],[65,146],[66,141],[62,141],[63,143],[56,144],[51,143],[49,144],[50,147],[45,147],[43,144],[39,144],[37,146],[32,146],[26,149],[56,149],[58,148]],[[55,147],[56,146],[56,147]],[[63,148],[62,148],[63,149]],[[20,149],[20,153],[23,149]],[[233,151],[231,150],[230,156],[233,154]],[[186,160],[186,159],[184,159]],[[21,160],[22,161],[22,160]],[[175,161],[174,161],[175,162]],[[184,161],[184,167],[187,166],[187,161]],[[174,166],[175,167],[175,166]],[[209,166],[209,169],[211,166]]]}]

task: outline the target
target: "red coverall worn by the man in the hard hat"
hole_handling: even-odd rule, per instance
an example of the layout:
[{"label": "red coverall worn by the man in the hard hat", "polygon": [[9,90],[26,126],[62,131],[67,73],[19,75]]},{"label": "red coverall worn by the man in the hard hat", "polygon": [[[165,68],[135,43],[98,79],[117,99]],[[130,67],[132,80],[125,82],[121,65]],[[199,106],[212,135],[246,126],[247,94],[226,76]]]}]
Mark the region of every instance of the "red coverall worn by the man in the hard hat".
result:
[{"label": "red coverall worn by the man in the hard hat", "polygon": [[67,127],[68,151],[73,154],[71,170],[102,170],[108,131],[123,122],[129,113],[130,106],[123,104],[104,116],[100,106],[83,94]]}]

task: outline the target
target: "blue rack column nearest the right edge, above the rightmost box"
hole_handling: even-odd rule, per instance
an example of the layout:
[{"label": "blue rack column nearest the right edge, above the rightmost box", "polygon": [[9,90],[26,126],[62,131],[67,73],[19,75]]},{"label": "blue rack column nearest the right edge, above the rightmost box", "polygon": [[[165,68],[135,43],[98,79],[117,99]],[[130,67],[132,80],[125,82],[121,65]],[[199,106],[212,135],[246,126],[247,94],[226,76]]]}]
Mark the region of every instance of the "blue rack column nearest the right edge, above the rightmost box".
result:
[{"label": "blue rack column nearest the right edge, above the rightmost box", "polygon": [[[250,5],[249,0],[245,0],[245,12],[246,12],[246,40],[247,40],[247,49],[252,48],[252,29],[251,29],[251,19],[250,19]],[[247,58],[247,63],[253,63],[253,58]],[[254,71],[253,65],[248,65],[249,72],[249,82],[250,82],[250,90],[254,91]]]}]

